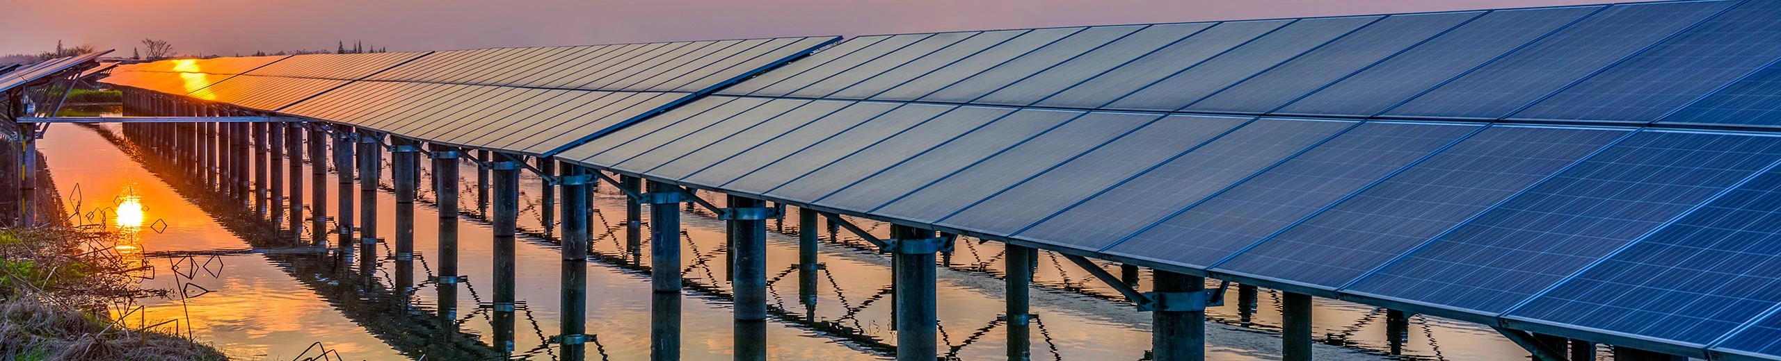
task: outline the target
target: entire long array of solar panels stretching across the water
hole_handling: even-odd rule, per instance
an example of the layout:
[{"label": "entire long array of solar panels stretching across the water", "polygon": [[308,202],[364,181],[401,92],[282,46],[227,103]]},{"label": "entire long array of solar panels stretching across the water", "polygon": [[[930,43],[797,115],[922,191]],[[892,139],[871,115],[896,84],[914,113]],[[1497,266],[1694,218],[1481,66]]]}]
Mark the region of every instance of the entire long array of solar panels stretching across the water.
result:
[{"label": "entire long array of solar panels stretching across the water", "polygon": [[[1781,139],[1667,126],[1781,124],[1767,80],[1777,5],[867,36],[766,73],[784,60],[739,62],[720,82],[675,73],[834,39],[107,82],[1549,334],[1777,359]],[[796,52],[755,50],[775,41]],[[299,59],[370,62],[271,64]],[[155,85],[187,75],[242,82]],[[712,89],[723,96],[698,96]],[[1647,128],[1482,123],[1503,117]]]}]

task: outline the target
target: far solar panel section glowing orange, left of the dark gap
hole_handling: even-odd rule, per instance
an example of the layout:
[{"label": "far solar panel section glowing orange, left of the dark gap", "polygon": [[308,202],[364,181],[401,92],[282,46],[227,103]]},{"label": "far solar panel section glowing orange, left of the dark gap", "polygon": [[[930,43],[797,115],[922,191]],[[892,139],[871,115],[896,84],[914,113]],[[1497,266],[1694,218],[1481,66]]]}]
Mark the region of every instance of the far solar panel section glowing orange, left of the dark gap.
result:
[{"label": "far solar panel section glowing orange, left of the dark gap", "polygon": [[550,155],[835,41],[192,59],[119,68],[102,82],[442,144]]}]

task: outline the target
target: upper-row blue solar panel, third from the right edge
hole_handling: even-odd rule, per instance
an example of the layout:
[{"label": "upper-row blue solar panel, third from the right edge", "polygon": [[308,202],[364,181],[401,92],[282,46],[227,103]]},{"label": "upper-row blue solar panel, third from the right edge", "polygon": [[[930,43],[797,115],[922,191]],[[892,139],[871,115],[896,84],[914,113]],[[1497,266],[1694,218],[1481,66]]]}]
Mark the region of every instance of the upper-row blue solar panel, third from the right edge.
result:
[{"label": "upper-row blue solar panel, third from the right edge", "polygon": [[1389,116],[1498,119],[1736,2],[1622,4],[1421,94]]}]

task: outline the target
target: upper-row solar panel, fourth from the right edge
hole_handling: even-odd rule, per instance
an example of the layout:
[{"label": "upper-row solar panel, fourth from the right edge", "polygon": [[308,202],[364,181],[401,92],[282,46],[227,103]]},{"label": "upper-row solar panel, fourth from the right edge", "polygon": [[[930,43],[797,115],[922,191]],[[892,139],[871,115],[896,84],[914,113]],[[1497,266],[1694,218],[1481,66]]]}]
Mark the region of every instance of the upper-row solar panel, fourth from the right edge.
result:
[{"label": "upper-row solar panel, fourth from the right edge", "polygon": [[1311,92],[1275,110],[1275,114],[1375,116],[1599,9],[1603,7],[1491,11],[1428,43]]}]

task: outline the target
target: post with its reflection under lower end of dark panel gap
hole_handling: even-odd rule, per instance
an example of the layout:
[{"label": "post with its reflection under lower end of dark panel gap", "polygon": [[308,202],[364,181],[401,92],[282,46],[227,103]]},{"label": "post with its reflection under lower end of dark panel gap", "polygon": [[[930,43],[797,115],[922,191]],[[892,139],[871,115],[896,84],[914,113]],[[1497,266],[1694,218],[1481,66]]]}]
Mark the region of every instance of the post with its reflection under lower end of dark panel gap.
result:
[{"label": "post with its reflection under lower end of dark panel gap", "polygon": [[[556,164],[556,160],[543,160]],[[593,183],[590,172],[579,165],[563,165],[563,324],[557,334],[563,343],[565,361],[586,357],[586,315],[588,315],[588,185]]]}]

